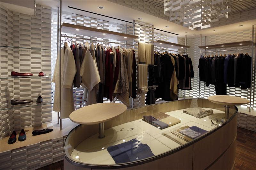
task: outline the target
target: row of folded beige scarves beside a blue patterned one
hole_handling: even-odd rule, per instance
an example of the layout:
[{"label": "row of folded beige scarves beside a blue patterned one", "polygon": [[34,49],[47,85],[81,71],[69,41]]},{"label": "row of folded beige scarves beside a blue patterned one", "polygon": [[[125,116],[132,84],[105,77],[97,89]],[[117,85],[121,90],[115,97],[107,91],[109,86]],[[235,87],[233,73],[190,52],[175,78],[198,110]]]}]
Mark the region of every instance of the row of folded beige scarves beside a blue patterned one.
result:
[{"label": "row of folded beige scarves beside a blue patterned one", "polygon": [[208,131],[198,128],[197,126],[183,126],[176,130],[164,132],[162,135],[172,139],[178,144],[186,144],[206,132]]}]

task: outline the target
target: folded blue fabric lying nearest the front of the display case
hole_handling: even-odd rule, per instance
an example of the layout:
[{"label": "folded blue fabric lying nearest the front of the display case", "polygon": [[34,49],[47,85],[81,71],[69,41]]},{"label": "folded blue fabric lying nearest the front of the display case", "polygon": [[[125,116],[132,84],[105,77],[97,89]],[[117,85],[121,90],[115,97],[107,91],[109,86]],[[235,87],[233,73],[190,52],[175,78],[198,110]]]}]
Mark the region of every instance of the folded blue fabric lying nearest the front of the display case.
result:
[{"label": "folded blue fabric lying nearest the front of the display case", "polygon": [[107,148],[108,153],[116,164],[132,162],[155,156],[147,144],[142,144],[137,139],[132,139],[122,144]]}]

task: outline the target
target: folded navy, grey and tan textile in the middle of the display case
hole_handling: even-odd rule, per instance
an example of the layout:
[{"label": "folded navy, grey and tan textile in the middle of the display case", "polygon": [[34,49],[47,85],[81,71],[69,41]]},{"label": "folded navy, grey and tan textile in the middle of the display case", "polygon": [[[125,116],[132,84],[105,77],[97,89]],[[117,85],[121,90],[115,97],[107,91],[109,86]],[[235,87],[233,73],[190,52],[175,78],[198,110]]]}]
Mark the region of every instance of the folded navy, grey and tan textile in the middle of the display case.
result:
[{"label": "folded navy, grey and tan textile in the middle of the display case", "polygon": [[142,120],[153,126],[156,126],[159,129],[168,128],[172,125],[180,123],[179,119],[167,115],[163,112],[160,112],[154,116],[143,116]]}]

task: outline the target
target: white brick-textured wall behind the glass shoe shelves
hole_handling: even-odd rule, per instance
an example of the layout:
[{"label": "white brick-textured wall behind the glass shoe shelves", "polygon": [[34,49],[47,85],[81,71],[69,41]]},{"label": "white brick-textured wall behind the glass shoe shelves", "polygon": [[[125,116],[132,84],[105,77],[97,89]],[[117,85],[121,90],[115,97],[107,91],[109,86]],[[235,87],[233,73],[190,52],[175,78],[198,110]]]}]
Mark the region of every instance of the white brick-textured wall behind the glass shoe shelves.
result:
[{"label": "white brick-textured wall behind the glass shoe shelves", "polygon": [[[37,76],[43,71],[51,76],[51,8],[37,5],[36,16],[12,12],[1,4],[1,47],[0,77],[11,76],[11,71],[31,72]],[[28,48],[28,49],[24,49]],[[30,48],[41,48],[30,49]],[[8,78],[1,79],[1,125],[0,139],[12,130],[26,126],[40,126],[52,121],[51,104],[35,106],[42,95],[44,103],[52,103],[51,78]],[[12,99],[32,99],[33,106],[11,108]]]}]

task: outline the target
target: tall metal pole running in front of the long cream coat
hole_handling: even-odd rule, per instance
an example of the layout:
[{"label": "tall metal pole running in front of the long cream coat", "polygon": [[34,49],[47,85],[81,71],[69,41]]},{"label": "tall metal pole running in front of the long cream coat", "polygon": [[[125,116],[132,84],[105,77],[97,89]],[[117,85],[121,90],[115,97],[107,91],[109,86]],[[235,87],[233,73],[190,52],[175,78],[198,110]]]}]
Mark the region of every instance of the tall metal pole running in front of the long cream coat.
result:
[{"label": "tall metal pole running in front of the long cream coat", "polygon": [[[62,1],[60,0],[60,29],[59,29],[59,33],[60,33],[60,105],[61,105],[61,6],[62,6]],[[62,122],[61,122],[61,119],[60,119],[60,130],[62,130]]]}]

